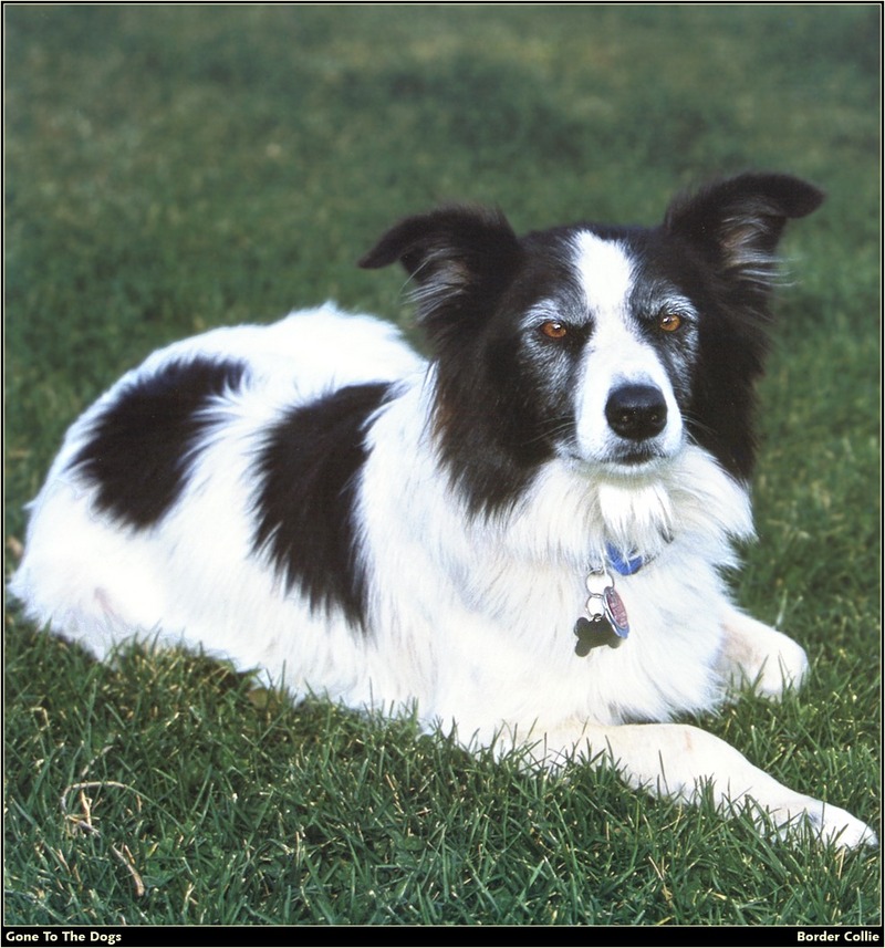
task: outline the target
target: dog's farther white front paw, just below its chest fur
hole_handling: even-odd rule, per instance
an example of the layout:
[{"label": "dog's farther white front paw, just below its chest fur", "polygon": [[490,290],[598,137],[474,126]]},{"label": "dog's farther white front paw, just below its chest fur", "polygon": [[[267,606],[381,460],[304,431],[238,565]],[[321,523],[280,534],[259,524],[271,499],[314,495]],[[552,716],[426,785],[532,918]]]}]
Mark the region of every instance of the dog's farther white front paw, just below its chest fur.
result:
[{"label": "dog's farther white front paw, just below its chest fur", "polygon": [[718,670],[729,687],[750,687],[766,698],[779,698],[802,685],[809,659],[792,638],[737,610],[726,613],[722,628]]}]

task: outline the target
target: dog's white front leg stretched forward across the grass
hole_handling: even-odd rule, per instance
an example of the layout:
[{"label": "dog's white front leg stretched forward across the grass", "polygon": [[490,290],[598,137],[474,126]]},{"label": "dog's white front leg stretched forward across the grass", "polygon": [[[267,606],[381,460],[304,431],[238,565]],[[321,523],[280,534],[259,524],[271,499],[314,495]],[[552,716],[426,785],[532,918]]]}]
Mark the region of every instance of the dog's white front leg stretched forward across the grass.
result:
[{"label": "dog's white front leg stretched forward across the grass", "polygon": [[[546,752],[554,742],[549,736]],[[726,815],[750,808],[756,822],[779,834],[806,824],[839,846],[876,844],[873,830],[837,806],[784,786],[716,736],[689,725],[587,726],[579,756],[613,764],[632,786],[687,803],[709,792]]]}]

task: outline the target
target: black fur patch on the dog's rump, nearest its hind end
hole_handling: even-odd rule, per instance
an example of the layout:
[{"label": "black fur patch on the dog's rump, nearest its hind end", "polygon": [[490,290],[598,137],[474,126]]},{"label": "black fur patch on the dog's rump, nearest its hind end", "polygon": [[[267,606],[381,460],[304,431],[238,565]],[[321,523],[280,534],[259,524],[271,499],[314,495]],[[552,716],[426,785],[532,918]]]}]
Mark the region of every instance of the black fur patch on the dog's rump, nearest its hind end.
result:
[{"label": "black fur patch on the dog's rump, nearest its hind end", "polygon": [[97,487],[96,507],[138,529],[157,523],[181,494],[211,419],[212,398],[237,388],[240,362],[173,362],[126,387],[93,425],[72,468]]}]

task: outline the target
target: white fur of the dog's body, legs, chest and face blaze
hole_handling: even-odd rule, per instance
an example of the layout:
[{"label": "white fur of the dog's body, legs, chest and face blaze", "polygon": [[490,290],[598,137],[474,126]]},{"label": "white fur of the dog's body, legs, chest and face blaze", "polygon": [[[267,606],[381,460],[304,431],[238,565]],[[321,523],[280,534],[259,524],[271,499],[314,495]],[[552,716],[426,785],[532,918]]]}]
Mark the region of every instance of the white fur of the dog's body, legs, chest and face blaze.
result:
[{"label": "white fur of the dog's body, legs, chest and face blaze", "polygon": [[[623,253],[592,241],[584,251],[604,253],[615,274],[591,300],[604,329],[587,365],[610,381],[617,372],[647,376],[666,386],[670,407],[663,368],[618,317],[631,279]],[[66,470],[118,387],[72,427],[31,508],[12,584],[33,621],[100,657],[132,636],[181,643],[260,668],[295,698],[319,691],[385,710],[416,702],[428,728],[454,729],[468,746],[534,742],[538,760],[551,767],[572,752],[611,758],[632,784],[686,800],[714,780],[723,809],[752,799],[779,824],[808,817],[845,845],[874,838],[717,738],[681,725],[623,723],[708,710],[737,679],[759,678],[777,696],[784,678],[798,685],[806,668],[799,646],[729,600],[719,571],[735,564],[733,540],[751,533],[747,491],[684,444],[675,402],[671,429],[662,435],[667,466],[591,477],[574,460],[555,459],[512,511],[487,519],[468,515],[440,471],[428,421],[433,369],[387,324],[326,306],[271,326],[218,330],[154,354],[122,384],[195,353],[244,360],[250,381],[211,409],[208,447],[186,494],[154,528],[123,529],[97,514]],[[613,355],[617,368],[603,372]],[[287,408],[373,381],[397,381],[399,389],[366,436],[358,522],[371,592],[369,634],[362,635],[285,595],[250,552],[250,463],[262,431]],[[591,457],[600,393],[585,381],[579,396]],[[617,579],[631,635],[621,648],[579,658],[573,626],[585,576],[612,541],[648,559]]]}]

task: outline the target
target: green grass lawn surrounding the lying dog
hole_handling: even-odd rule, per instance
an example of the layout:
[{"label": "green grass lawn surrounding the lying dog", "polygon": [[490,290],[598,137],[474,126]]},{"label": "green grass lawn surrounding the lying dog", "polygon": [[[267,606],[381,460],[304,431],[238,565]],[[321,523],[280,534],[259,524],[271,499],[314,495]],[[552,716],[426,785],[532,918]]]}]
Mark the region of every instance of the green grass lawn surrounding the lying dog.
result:
[{"label": "green grass lawn surrounding the lying dog", "polygon": [[[701,723],[879,825],[877,8],[4,15],[8,570],[65,427],[155,346],[326,298],[406,321],[402,277],[354,267],[403,213],[652,222],[715,174],[823,186],[785,241],[736,577],[814,671]],[[876,853],[775,845],[608,772],[292,709],[199,657],[97,666],[14,608],[6,673],[7,924],[881,921]]]}]

